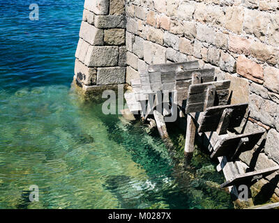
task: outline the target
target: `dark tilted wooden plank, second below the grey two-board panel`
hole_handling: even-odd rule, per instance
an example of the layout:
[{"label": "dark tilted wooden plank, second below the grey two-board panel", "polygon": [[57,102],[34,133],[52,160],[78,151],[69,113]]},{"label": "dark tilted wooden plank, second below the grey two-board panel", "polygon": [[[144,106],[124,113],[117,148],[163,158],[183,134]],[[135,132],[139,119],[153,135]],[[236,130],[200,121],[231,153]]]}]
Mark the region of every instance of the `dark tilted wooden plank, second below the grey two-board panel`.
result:
[{"label": "dark tilted wooden plank, second below the grey two-board panel", "polygon": [[254,146],[257,144],[257,141],[261,139],[262,134],[264,134],[265,131],[259,131],[259,132],[252,132],[249,134],[236,134],[232,137],[227,137],[225,139],[222,139],[218,141],[218,144],[213,148],[213,153],[211,154],[211,158],[220,157],[220,156],[226,156],[226,157],[232,157],[235,155],[237,146],[239,145],[239,142],[241,141],[241,138],[248,138],[249,141],[243,148],[241,148],[242,151],[248,151],[252,150]]}]

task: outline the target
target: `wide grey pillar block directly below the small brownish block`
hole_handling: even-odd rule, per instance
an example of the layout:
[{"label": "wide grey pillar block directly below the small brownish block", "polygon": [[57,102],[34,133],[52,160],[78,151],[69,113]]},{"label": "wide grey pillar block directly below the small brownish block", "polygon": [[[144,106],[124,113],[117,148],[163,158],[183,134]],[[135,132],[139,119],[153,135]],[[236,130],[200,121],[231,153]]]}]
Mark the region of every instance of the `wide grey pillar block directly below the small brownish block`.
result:
[{"label": "wide grey pillar block directly below the small brownish block", "polygon": [[117,66],[118,59],[119,47],[90,46],[84,64],[89,67]]}]

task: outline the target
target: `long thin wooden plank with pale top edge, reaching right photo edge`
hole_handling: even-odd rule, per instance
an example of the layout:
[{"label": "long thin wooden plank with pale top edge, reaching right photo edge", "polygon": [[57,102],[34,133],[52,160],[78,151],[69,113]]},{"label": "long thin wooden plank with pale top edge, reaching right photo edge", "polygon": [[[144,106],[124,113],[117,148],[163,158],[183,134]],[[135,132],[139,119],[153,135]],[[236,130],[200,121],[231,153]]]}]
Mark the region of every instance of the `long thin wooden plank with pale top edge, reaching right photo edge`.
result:
[{"label": "long thin wooden plank with pale top edge, reaching right photo edge", "polygon": [[224,188],[232,185],[247,185],[252,183],[254,180],[259,180],[261,178],[264,178],[265,176],[269,176],[275,171],[278,171],[278,169],[279,166],[262,169],[259,171],[248,172],[246,174],[237,174],[236,176],[233,176],[230,180],[227,180],[225,183],[220,185],[220,187]]}]

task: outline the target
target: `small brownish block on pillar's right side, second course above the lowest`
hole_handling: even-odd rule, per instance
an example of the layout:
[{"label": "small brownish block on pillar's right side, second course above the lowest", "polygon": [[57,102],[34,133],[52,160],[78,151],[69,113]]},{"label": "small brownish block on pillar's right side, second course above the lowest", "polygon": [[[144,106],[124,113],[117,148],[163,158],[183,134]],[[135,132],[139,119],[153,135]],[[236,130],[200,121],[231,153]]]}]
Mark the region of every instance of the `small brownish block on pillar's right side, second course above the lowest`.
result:
[{"label": "small brownish block on pillar's right side, second course above the lowest", "polygon": [[107,45],[124,45],[125,29],[106,29],[104,31],[104,42]]}]

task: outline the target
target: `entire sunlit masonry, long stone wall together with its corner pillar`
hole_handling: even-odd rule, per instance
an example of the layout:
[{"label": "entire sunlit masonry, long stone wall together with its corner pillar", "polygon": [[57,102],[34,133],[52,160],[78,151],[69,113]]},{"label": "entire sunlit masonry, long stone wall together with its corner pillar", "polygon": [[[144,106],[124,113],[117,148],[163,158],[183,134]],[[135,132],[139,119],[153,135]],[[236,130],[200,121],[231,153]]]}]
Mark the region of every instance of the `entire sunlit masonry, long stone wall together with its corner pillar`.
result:
[{"label": "entire sunlit masonry, long stone wall together with its corner pillar", "polygon": [[[278,0],[86,0],[84,8],[80,83],[130,84],[149,64],[198,60],[232,80],[232,103],[249,102],[246,132],[266,130],[260,153],[241,160],[257,160],[255,169],[279,164]],[[279,199],[278,181],[264,180]]]}]

